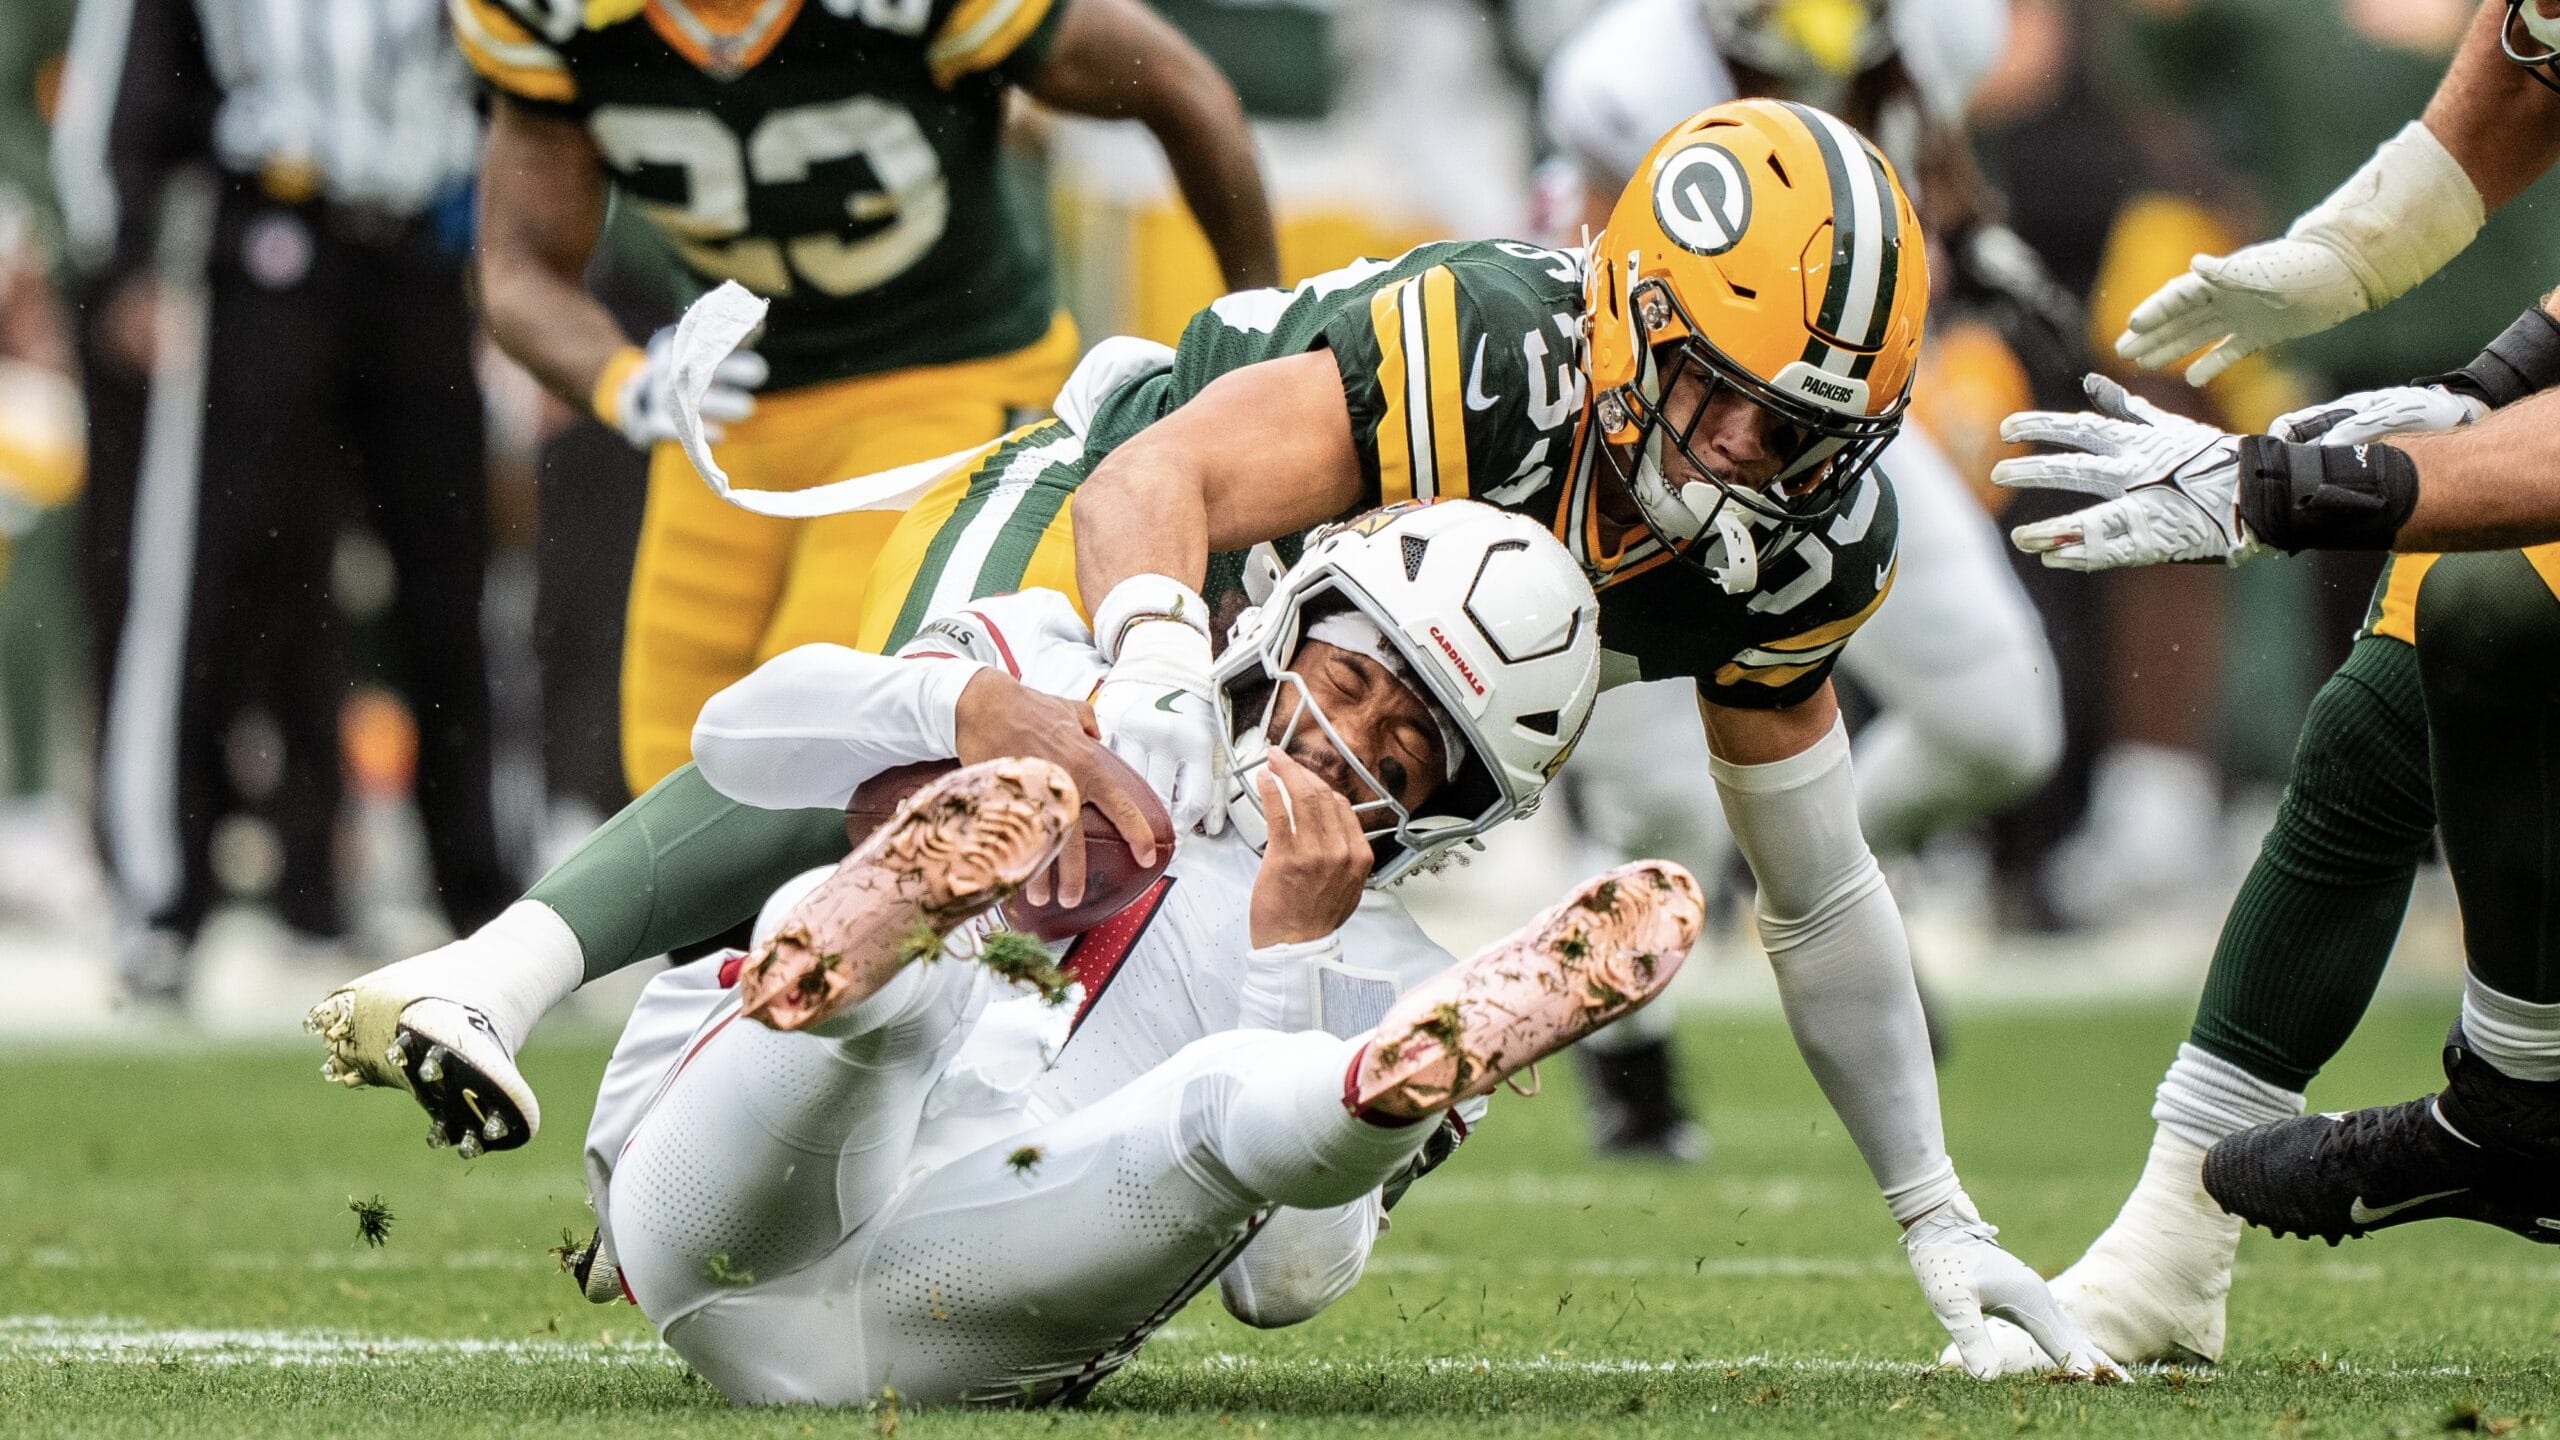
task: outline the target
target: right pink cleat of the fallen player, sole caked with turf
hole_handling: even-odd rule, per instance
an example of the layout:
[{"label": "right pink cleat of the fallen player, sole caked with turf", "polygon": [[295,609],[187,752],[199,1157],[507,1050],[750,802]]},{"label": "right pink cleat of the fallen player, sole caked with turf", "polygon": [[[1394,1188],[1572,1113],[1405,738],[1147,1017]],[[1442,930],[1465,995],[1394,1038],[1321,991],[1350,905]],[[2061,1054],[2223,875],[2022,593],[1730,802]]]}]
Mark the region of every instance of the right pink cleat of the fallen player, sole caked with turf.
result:
[{"label": "right pink cleat of the fallen player, sole caked with turf", "polygon": [[1518,935],[1413,986],[1359,1053],[1352,1102],[1418,1120],[1554,1056],[1661,994],[1705,899],[1669,861],[1585,881]]}]

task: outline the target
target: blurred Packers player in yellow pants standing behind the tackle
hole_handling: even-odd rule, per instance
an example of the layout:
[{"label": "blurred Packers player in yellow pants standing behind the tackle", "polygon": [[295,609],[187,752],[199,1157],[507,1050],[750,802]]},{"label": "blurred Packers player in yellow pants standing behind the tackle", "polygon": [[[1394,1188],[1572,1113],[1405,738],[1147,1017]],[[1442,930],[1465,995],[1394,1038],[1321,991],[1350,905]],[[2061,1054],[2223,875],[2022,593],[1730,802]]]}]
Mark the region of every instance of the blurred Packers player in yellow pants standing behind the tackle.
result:
[{"label": "blurred Packers player in yellow pants standing behind the tackle", "polygon": [[[458,0],[492,85],[489,328],[553,395],[653,448],[622,661],[632,792],[686,761],[701,702],[755,661],[845,638],[896,515],[771,520],[666,443],[666,346],[584,290],[607,197],[689,274],[773,300],[724,366],[719,464],[804,489],[950,454],[1050,402],[1075,361],[1047,215],[1004,151],[1009,97],[1142,120],[1229,284],[1275,279],[1236,97],[1137,0]],[[758,392],[758,395],[750,395]]]}]

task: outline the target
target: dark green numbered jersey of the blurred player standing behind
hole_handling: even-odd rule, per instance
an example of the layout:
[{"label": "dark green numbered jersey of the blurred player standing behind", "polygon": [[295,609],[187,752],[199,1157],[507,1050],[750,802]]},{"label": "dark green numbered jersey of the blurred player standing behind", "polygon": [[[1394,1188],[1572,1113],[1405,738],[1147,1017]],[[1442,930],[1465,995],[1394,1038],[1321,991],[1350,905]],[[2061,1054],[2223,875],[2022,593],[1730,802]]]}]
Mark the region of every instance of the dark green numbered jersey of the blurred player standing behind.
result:
[{"label": "dark green numbered jersey of the blurred player standing behind", "polygon": [[730,36],[684,0],[451,13],[489,85],[586,126],[694,279],[773,302],[758,351],[791,389],[1050,328],[1047,213],[998,141],[1068,5],[760,0]]}]

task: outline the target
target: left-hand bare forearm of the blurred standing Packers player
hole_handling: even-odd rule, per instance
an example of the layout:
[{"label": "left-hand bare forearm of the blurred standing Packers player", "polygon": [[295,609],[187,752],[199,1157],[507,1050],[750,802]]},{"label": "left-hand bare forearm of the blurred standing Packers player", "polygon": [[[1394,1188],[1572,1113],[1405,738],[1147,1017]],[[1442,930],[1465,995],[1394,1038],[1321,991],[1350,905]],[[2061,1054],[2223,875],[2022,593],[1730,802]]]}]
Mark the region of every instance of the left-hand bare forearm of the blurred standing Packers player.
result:
[{"label": "left-hand bare forearm of the blurred standing Packers player", "polygon": [[604,156],[579,120],[535,115],[494,95],[481,159],[481,302],[489,336],[584,413],[607,361],[630,346],[586,295],[604,231]]}]

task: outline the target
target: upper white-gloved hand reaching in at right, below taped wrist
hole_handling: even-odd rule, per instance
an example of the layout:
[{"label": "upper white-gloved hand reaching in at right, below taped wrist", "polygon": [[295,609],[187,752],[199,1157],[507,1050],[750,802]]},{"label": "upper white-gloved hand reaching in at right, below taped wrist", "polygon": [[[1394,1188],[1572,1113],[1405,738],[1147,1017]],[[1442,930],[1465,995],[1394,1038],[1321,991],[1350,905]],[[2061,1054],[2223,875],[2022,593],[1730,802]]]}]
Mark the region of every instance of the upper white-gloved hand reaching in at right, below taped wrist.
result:
[{"label": "upper white-gloved hand reaching in at right, below taped wrist", "polygon": [[2322,241],[2278,238],[2227,256],[2194,256],[2186,274],[2132,307],[2115,354],[2161,369],[2204,351],[2186,384],[2209,384],[2266,346],[2317,336],[2373,307],[2348,259]]}]

